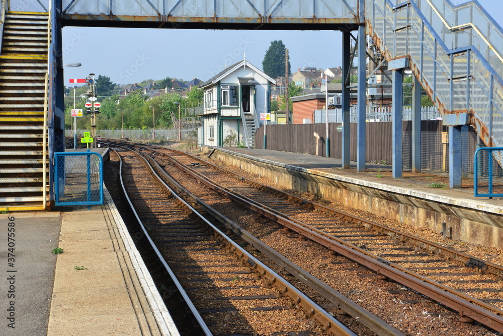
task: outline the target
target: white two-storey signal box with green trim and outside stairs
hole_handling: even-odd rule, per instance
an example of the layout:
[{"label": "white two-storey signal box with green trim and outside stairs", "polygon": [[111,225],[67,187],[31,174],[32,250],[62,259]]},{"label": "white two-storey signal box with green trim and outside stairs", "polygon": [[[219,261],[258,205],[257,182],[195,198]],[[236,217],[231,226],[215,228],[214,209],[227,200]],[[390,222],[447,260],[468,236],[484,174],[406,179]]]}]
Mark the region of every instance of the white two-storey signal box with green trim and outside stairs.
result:
[{"label": "white two-storey signal box with green trim and outside stairs", "polygon": [[204,146],[254,147],[261,114],[270,111],[270,86],[276,81],[243,60],[227,66],[200,88],[204,90]]}]

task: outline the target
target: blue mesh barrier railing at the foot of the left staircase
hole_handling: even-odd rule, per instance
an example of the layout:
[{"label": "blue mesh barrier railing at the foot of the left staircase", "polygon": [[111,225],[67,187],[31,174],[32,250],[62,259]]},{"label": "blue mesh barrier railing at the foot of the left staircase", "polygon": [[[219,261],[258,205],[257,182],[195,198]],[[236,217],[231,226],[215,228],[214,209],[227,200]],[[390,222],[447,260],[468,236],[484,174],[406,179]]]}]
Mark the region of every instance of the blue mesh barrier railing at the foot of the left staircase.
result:
[{"label": "blue mesh barrier railing at the foot of the left staircase", "polygon": [[103,158],[94,152],[54,153],[56,206],[103,204]]}]

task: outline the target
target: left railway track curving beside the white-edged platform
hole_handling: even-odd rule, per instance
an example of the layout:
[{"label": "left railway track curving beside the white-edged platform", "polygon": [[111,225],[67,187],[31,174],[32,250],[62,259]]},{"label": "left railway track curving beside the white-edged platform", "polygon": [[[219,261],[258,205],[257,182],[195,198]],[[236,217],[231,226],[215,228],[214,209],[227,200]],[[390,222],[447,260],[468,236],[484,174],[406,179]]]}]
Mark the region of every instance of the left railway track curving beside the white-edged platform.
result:
[{"label": "left railway track curving beside the white-edged platform", "polygon": [[[354,334],[238,242],[196,216],[181,197],[166,194],[169,188],[154,180],[136,154],[119,155],[135,214],[206,334]],[[153,187],[155,183],[164,190]],[[389,330],[387,334],[400,334]]]}]

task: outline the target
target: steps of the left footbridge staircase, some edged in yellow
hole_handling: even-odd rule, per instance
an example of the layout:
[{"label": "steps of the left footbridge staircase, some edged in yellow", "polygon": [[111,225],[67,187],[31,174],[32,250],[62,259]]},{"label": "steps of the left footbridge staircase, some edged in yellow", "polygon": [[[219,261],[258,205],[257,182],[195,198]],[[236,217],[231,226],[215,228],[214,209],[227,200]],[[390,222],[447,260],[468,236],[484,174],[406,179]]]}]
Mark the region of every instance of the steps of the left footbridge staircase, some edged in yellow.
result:
[{"label": "steps of the left footbridge staircase, some edged in yellow", "polygon": [[48,14],[7,12],[0,54],[0,211],[43,210]]}]

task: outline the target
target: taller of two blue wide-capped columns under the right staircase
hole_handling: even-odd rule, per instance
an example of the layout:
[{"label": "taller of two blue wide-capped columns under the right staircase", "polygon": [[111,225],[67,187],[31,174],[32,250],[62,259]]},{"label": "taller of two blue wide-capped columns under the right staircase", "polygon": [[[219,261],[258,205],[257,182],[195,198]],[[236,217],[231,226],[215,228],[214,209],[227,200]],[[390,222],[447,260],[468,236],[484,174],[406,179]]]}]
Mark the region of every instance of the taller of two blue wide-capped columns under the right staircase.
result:
[{"label": "taller of two blue wide-capped columns under the right staircase", "polygon": [[403,69],[393,70],[393,177],[402,177]]}]

